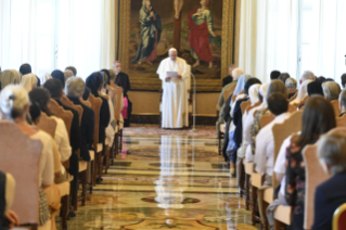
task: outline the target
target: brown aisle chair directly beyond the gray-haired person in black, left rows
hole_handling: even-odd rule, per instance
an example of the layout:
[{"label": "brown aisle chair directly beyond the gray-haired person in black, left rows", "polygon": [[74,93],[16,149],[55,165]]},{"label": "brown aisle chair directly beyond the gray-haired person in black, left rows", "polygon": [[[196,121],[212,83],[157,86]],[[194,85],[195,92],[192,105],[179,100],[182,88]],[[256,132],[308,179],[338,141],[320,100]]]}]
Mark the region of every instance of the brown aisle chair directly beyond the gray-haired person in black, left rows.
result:
[{"label": "brown aisle chair directly beyond the gray-haired person in black, left rows", "polygon": [[93,133],[93,149],[94,149],[94,164],[93,164],[93,175],[92,175],[92,184],[97,184],[97,178],[101,177],[102,175],[102,151],[103,145],[99,143],[99,126],[100,126],[100,111],[102,105],[102,99],[95,98],[94,95],[90,94],[89,102],[91,103],[91,108],[94,112],[95,118],[95,127]]}]

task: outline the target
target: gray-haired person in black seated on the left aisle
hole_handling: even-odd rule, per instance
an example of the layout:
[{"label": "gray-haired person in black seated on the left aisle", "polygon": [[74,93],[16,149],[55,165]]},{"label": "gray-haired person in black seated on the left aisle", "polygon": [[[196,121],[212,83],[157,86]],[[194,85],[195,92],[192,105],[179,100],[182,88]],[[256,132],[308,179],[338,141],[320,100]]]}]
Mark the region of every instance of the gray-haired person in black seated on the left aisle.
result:
[{"label": "gray-haired person in black seated on the left aisle", "polygon": [[[85,105],[80,100],[85,93],[86,82],[79,77],[71,77],[66,81],[66,95],[76,105],[82,107],[80,122],[80,156],[84,161],[90,161],[89,150],[93,143],[94,113],[93,110]],[[88,100],[88,98],[86,99]]]}]

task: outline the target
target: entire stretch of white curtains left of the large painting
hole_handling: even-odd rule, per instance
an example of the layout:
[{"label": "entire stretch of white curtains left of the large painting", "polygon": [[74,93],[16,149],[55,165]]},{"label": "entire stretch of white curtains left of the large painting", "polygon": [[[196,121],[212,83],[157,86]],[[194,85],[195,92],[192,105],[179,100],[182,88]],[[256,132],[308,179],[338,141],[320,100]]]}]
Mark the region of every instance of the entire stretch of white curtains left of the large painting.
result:
[{"label": "entire stretch of white curtains left of the large painting", "polygon": [[78,76],[112,67],[118,0],[0,0],[0,64],[41,75],[73,65]]}]

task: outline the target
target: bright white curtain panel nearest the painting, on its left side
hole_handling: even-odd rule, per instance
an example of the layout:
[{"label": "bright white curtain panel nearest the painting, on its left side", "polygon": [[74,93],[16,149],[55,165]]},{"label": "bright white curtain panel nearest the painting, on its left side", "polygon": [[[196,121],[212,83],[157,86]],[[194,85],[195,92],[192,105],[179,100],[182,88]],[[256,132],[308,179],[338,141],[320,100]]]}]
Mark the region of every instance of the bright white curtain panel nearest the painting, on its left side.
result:
[{"label": "bright white curtain panel nearest the painting, on its left side", "polygon": [[57,68],[73,65],[87,78],[115,60],[117,1],[59,1]]}]

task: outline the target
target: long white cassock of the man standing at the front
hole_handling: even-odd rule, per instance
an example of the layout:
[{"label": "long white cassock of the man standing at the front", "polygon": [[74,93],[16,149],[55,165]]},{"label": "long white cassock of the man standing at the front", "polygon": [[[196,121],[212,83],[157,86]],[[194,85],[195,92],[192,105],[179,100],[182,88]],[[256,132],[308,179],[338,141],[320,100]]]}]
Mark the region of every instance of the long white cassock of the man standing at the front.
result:
[{"label": "long white cassock of the man standing at the front", "polygon": [[[178,72],[181,79],[172,78],[166,82],[167,72]],[[164,95],[162,101],[162,127],[183,128],[189,126],[189,103],[187,80],[190,73],[187,62],[180,58],[171,61],[163,60],[157,68],[159,79],[164,82]]]}]

